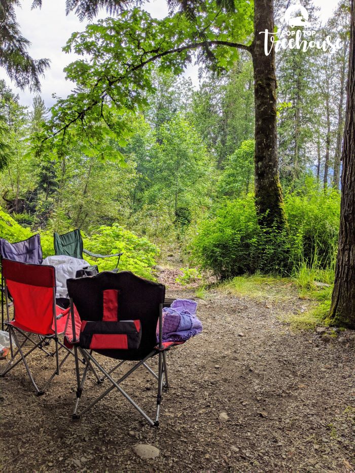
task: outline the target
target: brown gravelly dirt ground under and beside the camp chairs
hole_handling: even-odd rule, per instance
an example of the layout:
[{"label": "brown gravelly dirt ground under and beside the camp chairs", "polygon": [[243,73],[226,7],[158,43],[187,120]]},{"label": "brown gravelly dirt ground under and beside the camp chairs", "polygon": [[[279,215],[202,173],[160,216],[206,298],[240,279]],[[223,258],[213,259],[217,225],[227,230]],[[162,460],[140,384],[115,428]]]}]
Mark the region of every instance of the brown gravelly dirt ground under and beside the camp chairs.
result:
[{"label": "brown gravelly dirt ground under and beside the camp chairs", "polygon": [[[176,287],[167,295],[194,298]],[[279,321],[302,304],[296,294],[291,306],[272,306],[208,292],[198,306],[203,334],[168,352],[171,388],[163,394],[159,428],[116,390],[73,422],[74,359],[42,397],[24,367],[16,367],[0,379],[0,469],[354,471],[355,343],[350,332],[343,343],[325,343]],[[46,378],[53,359],[39,354],[31,366],[37,379]],[[153,416],[153,378],[138,371],[123,387]],[[82,406],[103,390],[92,375],[86,385]],[[137,443],[157,447],[159,456],[139,458]]]}]

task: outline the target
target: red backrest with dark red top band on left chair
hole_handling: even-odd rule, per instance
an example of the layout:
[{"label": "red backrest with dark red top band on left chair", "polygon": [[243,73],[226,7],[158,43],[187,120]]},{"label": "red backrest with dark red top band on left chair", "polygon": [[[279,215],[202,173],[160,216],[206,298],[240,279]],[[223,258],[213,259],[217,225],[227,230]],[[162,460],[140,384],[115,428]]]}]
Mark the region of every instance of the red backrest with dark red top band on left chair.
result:
[{"label": "red backrest with dark red top band on left chair", "polygon": [[55,269],[3,259],[3,275],[14,301],[16,325],[41,335],[53,334]]}]

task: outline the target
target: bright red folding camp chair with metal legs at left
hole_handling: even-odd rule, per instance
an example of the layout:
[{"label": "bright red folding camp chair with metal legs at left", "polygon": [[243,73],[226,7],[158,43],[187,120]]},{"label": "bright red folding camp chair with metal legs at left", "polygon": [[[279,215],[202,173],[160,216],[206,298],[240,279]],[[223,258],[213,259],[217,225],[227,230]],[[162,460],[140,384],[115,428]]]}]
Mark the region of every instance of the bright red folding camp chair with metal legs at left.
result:
[{"label": "bright red folding camp chair with metal legs at left", "polygon": [[[55,268],[53,266],[19,263],[7,259],[3,259],[2,264],[7,307],[7,322],[5,323],[9,329],[11,359],[0,375],[5,376],[22,360],[37,395],[41,395],[44,394],[54,376],[59,374],[59,369],[69,354],[74,354],[58,340],[58,334],[65,331],[68,311],[66,316],[63,316],[63,309],[55,304]],[[12,321],[10,321],[8,306],[9,290],[14,302],[15,319]],[[35,340],[32,340],[31,334],[36,336]],[[38,335],[40,337],[37,337]],[[44,341],[51,339],[55,342],[54,353],[48,352],[43,347]],[[23,347],[26,342],[31,344],[31,348],[24,353]],[[60,362],[58,347],[62,347],[65,351],[65,356]],[[35,383],[26,361],[26,357],[36,348],[42,350],[47,356],[54,355],[56,359],[56,369],[42,389]]]}]

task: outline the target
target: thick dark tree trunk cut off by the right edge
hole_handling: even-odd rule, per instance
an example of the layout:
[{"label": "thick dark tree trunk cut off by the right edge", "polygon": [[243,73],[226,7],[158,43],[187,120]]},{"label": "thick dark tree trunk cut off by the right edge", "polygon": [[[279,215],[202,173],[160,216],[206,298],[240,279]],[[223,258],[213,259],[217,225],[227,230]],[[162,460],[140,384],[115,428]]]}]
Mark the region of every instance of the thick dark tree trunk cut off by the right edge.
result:
[{"label": "thick dark tree trunk cut off by the right edge", "polygon": [[340,231],[329,318],[355,329],[355,0],[351,0],[349,75],[343,137]]}]

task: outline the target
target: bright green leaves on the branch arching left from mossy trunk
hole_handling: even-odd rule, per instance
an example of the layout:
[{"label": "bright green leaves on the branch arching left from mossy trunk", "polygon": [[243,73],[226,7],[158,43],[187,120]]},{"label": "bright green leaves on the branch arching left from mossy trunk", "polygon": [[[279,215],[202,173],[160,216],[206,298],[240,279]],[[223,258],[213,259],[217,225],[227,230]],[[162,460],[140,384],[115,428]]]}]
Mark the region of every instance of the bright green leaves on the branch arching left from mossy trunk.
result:
[{"label": "bright green leaves on the branch arching left from mossy trunk", "polygon": [[[169,2],[171,9],[177,5]],[[235,0],[233,11],[230,2],[196,2],[193,21],[189,11],[171,10],[158,20],[134,7],[123,10],[119,18],[99,20],[73,33],[64,51],[74,51],[82,59],[65,72],[76,88],[66,99],[58,99],[42,141],[48,136],[62,140],[74,123],[88,140],[102,140],[111,133],[126,139],[132,114],[143,110],[147,94],[154,92],[154,64],[179,75],[196,52],[197,63],[220,70],[232,66],[237,48],[248,49],[242,42],[253,31],[251,1]]]}]

